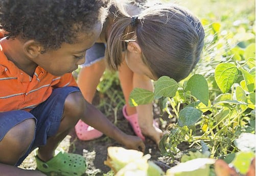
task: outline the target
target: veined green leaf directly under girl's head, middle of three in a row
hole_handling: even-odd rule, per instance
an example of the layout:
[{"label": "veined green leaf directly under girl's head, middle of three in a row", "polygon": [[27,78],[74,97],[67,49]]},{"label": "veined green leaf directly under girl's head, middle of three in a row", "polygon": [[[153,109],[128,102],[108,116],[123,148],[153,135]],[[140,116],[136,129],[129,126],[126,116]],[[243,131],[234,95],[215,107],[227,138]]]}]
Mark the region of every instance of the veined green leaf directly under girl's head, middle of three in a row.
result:
[{"label": "veined green leaf directly under girl's head, middle of three in a row", "polygon": [[173,97],[178,90],[178,83],[170,77],[160,77],[155,83],[154,98],[158,99],[162,96]]}]

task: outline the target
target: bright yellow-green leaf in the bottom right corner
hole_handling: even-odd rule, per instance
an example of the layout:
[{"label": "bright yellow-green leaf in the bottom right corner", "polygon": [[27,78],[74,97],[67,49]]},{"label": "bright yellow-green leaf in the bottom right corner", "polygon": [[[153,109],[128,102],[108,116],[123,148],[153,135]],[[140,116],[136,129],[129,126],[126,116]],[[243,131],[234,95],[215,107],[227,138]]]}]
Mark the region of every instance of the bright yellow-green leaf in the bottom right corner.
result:
[{"label": "bright yellow-green leaf in the bottom right corner", "polygon": [[253,152],[239,152],[231,163],[240,173],[245,174],[249,169],[253,157],[255,157],[255,153]]}]

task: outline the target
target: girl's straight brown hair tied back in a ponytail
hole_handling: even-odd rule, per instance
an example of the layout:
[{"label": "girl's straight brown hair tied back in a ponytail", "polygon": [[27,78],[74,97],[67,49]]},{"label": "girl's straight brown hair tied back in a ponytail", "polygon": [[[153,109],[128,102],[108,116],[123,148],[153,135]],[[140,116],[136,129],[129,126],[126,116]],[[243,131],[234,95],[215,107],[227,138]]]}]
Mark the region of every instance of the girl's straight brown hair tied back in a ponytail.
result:
[{"label": "girl's straight brown hair tied back in a ponytail", "polygon": [[169,76],[177,82],[193,70],[204,45],[198,18],[177,5],[154,5],[142,11],[131,25],[131,16],[116,17],[108,36],[106,61],[118,70],[125,42],[136,41],[143,62],[156,78]]}]

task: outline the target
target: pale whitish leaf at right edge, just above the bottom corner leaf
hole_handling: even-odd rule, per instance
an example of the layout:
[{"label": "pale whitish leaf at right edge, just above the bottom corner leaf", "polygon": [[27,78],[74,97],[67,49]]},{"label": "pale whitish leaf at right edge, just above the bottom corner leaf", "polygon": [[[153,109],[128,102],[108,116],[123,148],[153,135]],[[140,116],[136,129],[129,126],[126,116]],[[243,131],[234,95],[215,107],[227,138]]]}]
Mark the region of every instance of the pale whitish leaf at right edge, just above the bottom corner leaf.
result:
[{"label": "pale whitish leaf at right edge, just above the bottom corner leaf", "polygon": [[239,138],[234,141],[234,144],[243,152],[255,152],[255,135],[242,133]]}]

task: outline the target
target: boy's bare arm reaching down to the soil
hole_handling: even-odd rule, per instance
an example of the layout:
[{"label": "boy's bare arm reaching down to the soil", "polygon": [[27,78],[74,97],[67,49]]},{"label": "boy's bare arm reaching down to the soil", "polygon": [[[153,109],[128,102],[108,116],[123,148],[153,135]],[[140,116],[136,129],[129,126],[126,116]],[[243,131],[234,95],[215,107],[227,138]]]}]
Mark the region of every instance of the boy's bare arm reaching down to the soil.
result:
[{"label": "boy's bare arm reaching down to the soil", "polygon": [[[86,101],[85,101],[86,102]],[[108,137],[125,145],[129,149],[141,150],[144,152],[145,144],[137,136],[127,135],[109,121],[95,106],[86,102],[84,116],[81,118],[85,123],[101,131]]]}]

